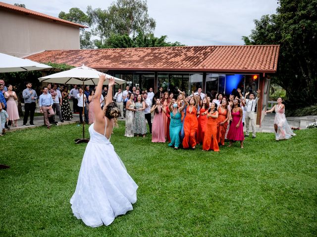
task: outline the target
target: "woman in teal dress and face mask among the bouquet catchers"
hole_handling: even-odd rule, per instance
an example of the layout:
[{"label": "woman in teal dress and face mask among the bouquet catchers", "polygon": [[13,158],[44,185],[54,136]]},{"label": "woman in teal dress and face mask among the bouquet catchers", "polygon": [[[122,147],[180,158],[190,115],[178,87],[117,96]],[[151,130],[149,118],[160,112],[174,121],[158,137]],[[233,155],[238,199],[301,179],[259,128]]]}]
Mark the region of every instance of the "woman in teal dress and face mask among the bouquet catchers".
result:
[{"label": "woman in teal dress and face mask among the bouquet catchers", "polygon": [[184,106],[184,101],[181,101],[180,107],[178,107],[178,103],[175,101],[175,99],[172,99],[168,105],[170,111],[169,136],[171,141],[168,146],[174,147],[176,150],[181,144],[180,131],[182,130],[183,125],[181,121],[181,111],[183,111]]}]

